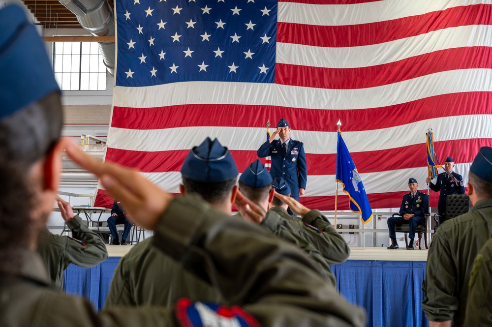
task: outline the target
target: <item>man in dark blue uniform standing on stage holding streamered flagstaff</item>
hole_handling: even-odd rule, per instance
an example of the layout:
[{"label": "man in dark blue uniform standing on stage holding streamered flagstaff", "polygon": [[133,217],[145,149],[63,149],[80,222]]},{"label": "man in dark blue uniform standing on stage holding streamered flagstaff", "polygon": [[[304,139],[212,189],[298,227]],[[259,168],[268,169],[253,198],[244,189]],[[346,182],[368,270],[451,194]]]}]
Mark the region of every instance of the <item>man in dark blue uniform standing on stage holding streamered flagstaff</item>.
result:
[{"label": "man in dark blue uniform standing on stage holding streamered flagstaff", "polygon": [[446,158],[444,170],[450,173],[454,178],[451,178],[448,173],[444,172],[437,175],[436,183],[431,183],[431,178],[427,178],[426,182],[432,191],[439,192],[439,202],[437,203],[437,212],[439,213],[439,224],[444,222],[444,213],[446,212],[446,196],[449,194],[463,194],[464,182],[460,174],[453,172],[455,161],[451,157]]}]

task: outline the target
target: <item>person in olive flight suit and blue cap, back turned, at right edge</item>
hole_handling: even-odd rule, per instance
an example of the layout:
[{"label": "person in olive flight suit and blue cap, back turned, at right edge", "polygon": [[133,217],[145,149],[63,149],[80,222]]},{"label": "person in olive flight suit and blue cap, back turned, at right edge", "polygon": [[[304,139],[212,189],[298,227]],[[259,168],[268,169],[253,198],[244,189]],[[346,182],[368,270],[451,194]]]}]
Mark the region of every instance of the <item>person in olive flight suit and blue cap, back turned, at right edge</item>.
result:
[{"label": "person in olive flight suit and blue cap, back turned, at right edge", "polygon": [[492,238],[492,149],[482,147],[468,172],[469,212],[446,220],[427,255],[422,309],[434,326],[462,326],[473,261]]}]

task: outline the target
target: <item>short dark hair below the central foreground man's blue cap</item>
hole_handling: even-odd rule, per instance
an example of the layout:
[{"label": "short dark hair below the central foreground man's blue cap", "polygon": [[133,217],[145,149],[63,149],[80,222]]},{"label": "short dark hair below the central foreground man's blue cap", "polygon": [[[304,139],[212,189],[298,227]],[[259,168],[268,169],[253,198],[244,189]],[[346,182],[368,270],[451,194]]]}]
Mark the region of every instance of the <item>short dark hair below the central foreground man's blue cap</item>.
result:
[{"label": "short dark hair below the central foreground man's blue cap", "polygon": [[183,186],[186,193],[197,193],[208,203],[222,203],[228,200],[232,189],[236,185],[237,177],[216,183],[206,183],[183,177]]}]

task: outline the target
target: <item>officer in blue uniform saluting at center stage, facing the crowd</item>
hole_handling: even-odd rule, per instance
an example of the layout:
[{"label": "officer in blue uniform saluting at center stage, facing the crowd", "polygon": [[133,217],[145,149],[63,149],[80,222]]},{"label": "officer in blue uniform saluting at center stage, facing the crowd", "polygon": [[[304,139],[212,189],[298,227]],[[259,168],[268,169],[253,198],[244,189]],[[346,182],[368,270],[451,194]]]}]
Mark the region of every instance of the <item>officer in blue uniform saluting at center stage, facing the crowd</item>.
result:
[{"label": "officer in blue uniform saluting at center stage, facing the crowd", "polygon": [[[290,125],[285,119],[280,119],[277,130],[270,139],[263,143],[256,151],[260,158],[272,157],[270,174],[272,178],[281,177],[289,184],[292,191],[291,197],[299,201],[299,196],[304,195],[307,182],[306,153],[304,143],[292,140],[289,136]],[[275,137],[280,139],[276,140]]]}]

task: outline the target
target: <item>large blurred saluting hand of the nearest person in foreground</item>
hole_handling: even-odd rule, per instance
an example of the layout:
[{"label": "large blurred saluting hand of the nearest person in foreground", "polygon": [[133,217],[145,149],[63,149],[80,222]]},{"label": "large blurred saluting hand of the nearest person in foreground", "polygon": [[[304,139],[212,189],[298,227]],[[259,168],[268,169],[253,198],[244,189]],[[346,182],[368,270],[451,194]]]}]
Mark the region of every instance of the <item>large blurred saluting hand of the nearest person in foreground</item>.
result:
[{"label": "large blurred saluting hand of the nearest person in foreground", "polygon": [[173,197],[164,192],[136,170],[100,162],[82,152],[70,142],[66,152],[82,168],[97,176],[106,191],[121,201],[128,217],[138,225],[153,230],[159,217],[168,208]]}]

